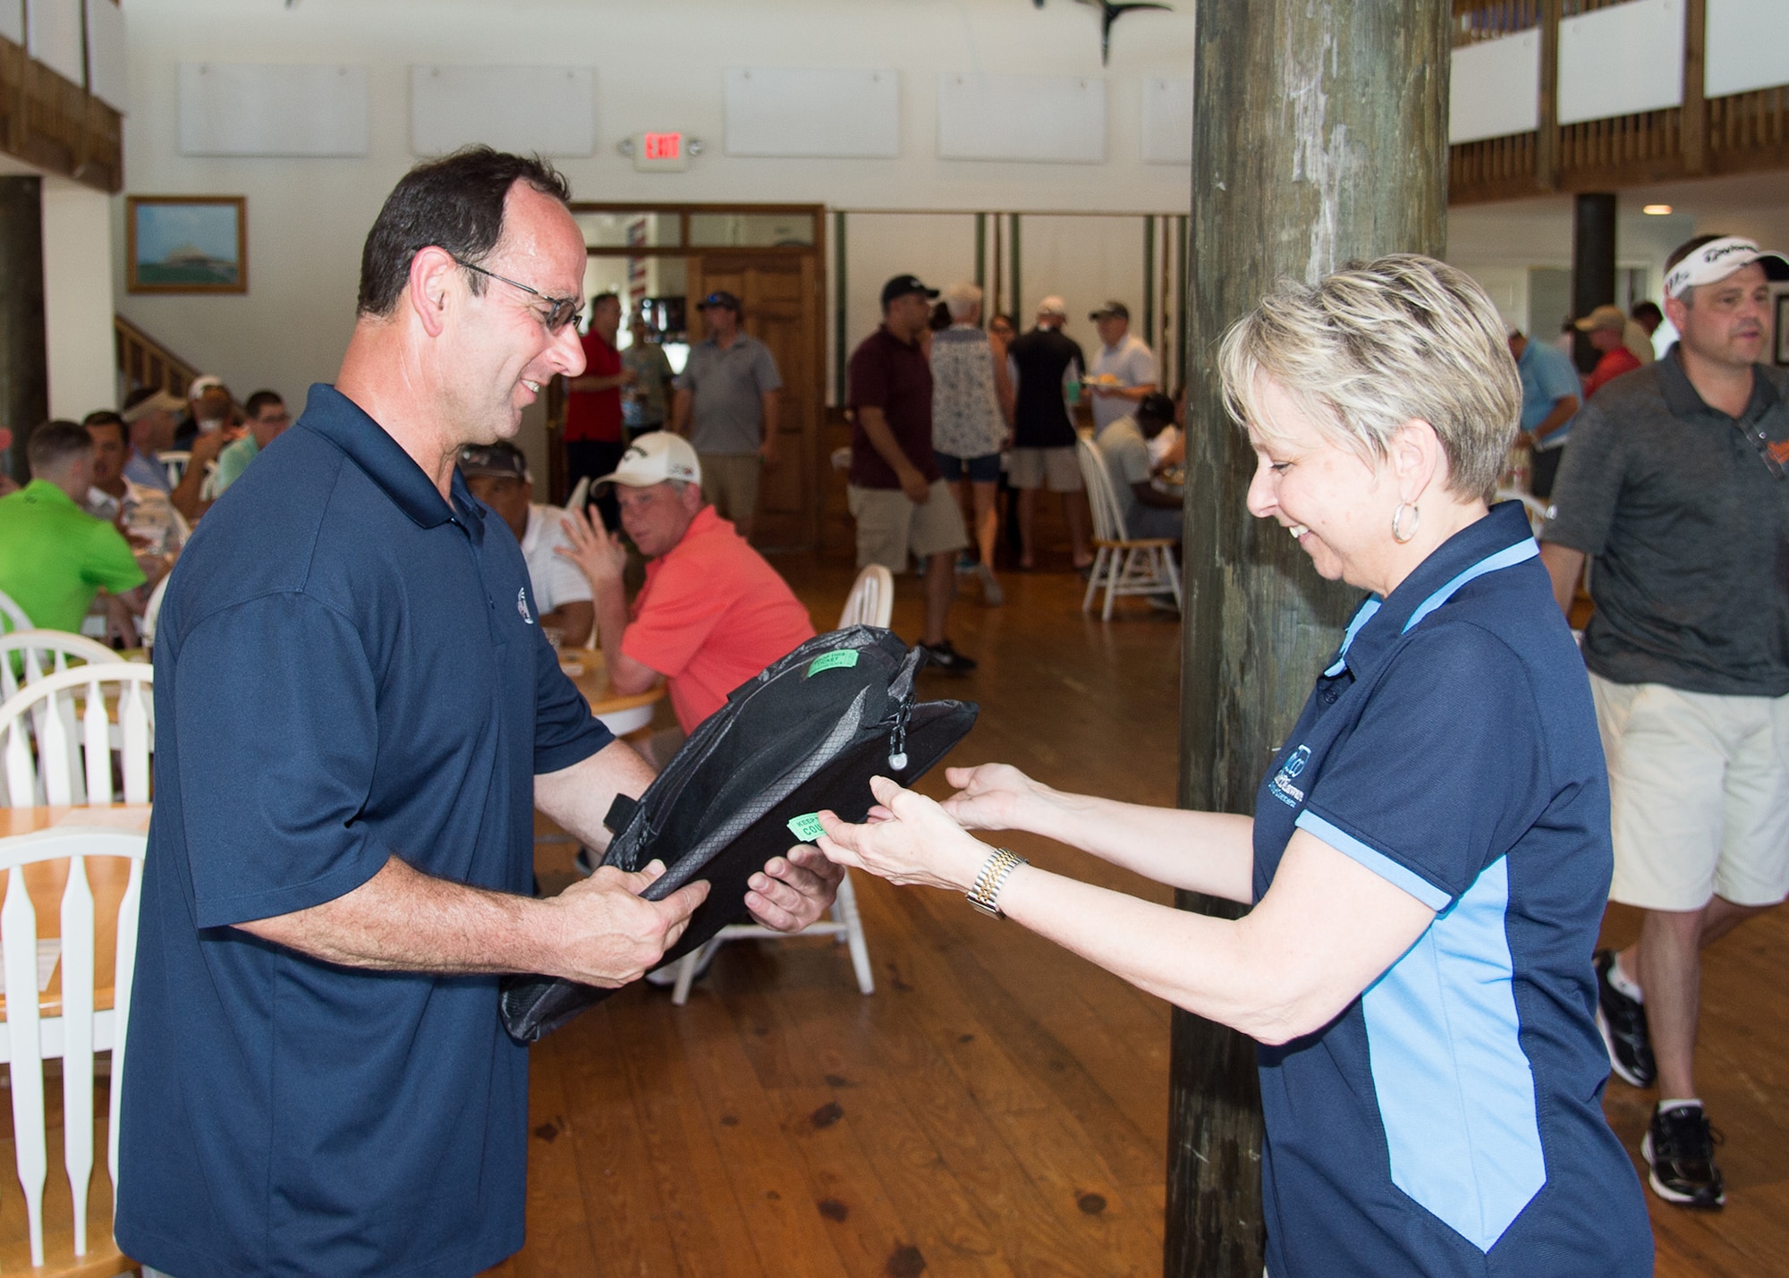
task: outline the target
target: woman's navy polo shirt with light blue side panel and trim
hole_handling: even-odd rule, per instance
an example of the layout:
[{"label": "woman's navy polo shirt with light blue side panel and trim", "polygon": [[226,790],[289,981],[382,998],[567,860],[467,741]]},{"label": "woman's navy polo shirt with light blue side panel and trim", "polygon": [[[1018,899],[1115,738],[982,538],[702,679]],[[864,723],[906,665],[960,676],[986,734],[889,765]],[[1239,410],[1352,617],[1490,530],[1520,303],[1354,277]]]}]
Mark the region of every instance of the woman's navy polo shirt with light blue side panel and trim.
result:
[{"label": "woman's navy polo shirt with light blue side panel and trim", "polygon": [[1259,1052],[1274,1278],[1649,1274],[1592,1020],[1608,777],[1521,505],[1361,605],[1256,798],[1256,900],[1295,829],[1437,915]]}]

